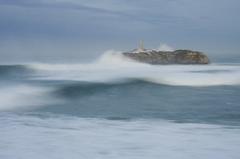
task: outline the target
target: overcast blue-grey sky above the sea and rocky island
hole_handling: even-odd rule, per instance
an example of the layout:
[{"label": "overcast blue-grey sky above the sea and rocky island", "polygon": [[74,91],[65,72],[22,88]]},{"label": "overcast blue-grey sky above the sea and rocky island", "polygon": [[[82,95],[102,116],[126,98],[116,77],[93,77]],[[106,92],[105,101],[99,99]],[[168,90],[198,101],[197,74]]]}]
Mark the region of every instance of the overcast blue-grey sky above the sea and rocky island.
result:
[{"label": "overcast blue-grey sky above the sea and rocky island", "polygon": [[240,57],[239,0],[0,0],[0,62],[78,62],[167,44]]}]

